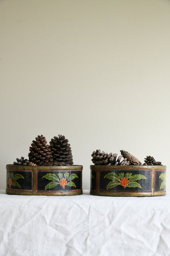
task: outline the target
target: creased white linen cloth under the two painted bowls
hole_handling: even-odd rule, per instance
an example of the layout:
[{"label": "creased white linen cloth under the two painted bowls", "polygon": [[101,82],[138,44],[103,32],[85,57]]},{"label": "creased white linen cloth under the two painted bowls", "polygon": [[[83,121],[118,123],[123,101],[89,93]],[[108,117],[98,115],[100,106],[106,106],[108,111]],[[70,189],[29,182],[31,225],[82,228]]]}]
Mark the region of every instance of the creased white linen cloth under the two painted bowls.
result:
[{"label": "creased white linen cloth under the two painted bowls", "polygon": [[170,192],[47,197],[0,190],[0,256],[170,256]]}]

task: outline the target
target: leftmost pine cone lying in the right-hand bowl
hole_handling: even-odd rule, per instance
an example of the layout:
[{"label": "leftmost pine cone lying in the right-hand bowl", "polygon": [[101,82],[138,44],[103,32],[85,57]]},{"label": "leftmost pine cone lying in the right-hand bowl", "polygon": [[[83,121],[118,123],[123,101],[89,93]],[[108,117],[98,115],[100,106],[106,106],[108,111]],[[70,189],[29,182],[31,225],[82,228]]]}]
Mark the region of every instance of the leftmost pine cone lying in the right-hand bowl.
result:
[{"label": "leftmost pine cone lying in the right-hand bowl", "polygon": [[104,151],[101,152],[100,149],[96,149],[96,151],[93,151],[92,157],[94,165],[108,165],[109,159],[112,157],[112,153],[107,154]]}]

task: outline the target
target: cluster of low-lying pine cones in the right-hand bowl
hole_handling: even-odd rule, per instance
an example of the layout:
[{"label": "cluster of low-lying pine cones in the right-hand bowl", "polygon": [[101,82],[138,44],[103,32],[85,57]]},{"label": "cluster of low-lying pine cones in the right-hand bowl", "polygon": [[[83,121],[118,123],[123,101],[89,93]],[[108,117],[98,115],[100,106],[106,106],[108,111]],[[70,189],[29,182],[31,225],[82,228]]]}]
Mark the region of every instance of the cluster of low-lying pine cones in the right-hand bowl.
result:
[{"label": "cluster of low-lying pine cones in the right-hand bowl", "polygon": [[[108,154],[97,149],[92,153],[92,162],[94,165],[142,165],[134,155],[125,150],[121,150],[121,155],[117,159],[116,157],[116,153]],[[155,161],[150,155],[145,158],[144,162],[143,165],[161,165],[161,162]]]}]

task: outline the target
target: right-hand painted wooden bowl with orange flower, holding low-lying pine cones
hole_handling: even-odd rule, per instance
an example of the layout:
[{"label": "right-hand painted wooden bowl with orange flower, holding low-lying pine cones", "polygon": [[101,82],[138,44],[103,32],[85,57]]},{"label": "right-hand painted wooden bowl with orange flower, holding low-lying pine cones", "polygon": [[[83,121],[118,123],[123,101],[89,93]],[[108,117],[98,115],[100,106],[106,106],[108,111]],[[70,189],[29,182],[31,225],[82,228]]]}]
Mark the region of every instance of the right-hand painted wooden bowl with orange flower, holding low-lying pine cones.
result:
[{"label": "right-hand painted wooden bowl with orange flower, holding low-lying pine cones", "polygon": [[90,194],[111,197],[166,195],[166,166],[90,165]]}]

